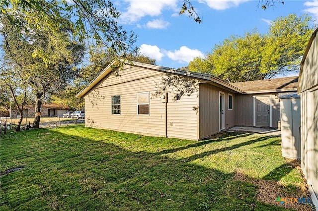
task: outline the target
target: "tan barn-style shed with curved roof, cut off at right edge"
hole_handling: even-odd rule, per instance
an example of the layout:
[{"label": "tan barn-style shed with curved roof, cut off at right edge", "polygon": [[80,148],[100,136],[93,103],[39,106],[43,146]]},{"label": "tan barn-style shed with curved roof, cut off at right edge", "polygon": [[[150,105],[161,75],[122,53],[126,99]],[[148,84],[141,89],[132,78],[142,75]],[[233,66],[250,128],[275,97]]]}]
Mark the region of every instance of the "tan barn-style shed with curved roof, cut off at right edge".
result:
[{"label": "tan barn-style shed with curved roof, cut off at right edge", "polygon": [[[305,50],[299,73],[302,170],[318,202],[318,28]],[[311,188],[310,188],[311,190]],[[317,204],[316,204],[317,206]]]}]

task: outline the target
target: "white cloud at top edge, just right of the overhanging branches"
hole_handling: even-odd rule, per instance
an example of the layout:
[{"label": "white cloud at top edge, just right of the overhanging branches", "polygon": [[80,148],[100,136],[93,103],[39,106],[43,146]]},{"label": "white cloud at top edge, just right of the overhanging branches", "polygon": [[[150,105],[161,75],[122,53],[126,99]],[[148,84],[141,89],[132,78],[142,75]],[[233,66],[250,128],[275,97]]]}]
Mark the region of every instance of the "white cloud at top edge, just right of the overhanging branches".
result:
[{"label": "white cloud at top edge, just right of the overhanging branches", "polygon": [[121,23],[134,23],[144,16],[158,16],[163,9],[177,7],[177,0],[127,0],[129,6],[120,16]]}]

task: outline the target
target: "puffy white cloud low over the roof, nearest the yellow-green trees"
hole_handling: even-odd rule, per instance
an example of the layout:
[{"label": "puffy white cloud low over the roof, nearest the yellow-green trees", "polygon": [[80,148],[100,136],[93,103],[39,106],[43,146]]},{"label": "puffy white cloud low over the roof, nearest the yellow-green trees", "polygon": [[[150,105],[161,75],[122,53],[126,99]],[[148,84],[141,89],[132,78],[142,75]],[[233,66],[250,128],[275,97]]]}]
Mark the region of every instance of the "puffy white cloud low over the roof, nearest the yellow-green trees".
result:
[{"label": "puffy white cloud low over the roof, nearest the yellow-green trees", "polygon": [[179,50],[174,50],[174,52],[168,51],[167,56],[172,60],[182,63],[190,62],[194,57],[204,57],[204,54],[199,50],[182,46]]}]

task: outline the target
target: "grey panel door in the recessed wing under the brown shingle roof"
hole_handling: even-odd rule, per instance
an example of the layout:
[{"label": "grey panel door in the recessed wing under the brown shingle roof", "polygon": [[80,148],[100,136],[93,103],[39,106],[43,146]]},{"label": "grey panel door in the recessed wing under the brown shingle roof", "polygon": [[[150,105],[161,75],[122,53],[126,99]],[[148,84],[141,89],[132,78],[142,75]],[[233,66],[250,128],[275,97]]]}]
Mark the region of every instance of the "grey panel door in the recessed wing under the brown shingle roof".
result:
[{"label": "grey panel door in the recessed wing under the brown shingle roof", "polygon": [[269,97],[255,98],[255,126],[269,127]]}]

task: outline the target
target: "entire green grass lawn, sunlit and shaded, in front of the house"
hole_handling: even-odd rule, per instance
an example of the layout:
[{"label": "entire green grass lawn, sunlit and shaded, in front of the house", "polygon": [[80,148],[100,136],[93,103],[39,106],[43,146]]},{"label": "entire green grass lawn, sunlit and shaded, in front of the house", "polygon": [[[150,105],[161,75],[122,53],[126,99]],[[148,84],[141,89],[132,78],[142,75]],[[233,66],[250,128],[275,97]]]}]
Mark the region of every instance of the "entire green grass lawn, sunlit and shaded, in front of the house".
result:
[{"label": "entire green grass lawn, sunlit and shaded, in front of the house", "polygon": [[14,132],[0,144],[0,171],[23,167],[0,176],[3,211],[285,210],[294,207],[276,206],[277,196],[306,194],[279,137],[189,141],[78,125]]}]

